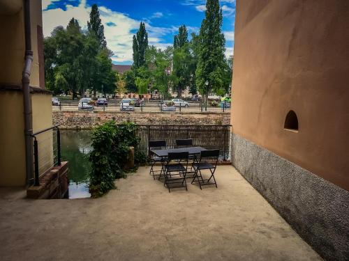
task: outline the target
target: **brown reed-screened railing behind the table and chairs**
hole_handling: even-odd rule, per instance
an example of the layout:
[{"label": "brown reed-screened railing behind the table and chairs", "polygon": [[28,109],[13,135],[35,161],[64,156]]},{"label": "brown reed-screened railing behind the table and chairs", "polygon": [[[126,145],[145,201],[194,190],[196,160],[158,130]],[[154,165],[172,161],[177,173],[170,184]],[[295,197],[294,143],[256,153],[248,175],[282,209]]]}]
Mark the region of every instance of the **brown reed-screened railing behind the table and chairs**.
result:
[{"label": "brown reed-screened railing behind the table and chairs", "polygon": [[229,161],[231,125],[138,125],[138,150],[149,153],[148,141],[165,140],[167,148],[177,148],[176,139],[193,139],[194,146],[219,149],[220,159]]}]

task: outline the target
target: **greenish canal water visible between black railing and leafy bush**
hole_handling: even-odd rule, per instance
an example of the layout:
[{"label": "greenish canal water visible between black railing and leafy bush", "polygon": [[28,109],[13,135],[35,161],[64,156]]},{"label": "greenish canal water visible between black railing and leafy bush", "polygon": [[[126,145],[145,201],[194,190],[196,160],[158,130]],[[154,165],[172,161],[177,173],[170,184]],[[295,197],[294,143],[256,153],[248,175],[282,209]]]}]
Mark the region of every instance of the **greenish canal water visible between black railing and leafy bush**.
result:
[{"label": "greenish canal water visible between black railing and leafy bush", "polygon": [[91,131],[61,129],[61,155],[69,161],[69,198],[89,198]]}]

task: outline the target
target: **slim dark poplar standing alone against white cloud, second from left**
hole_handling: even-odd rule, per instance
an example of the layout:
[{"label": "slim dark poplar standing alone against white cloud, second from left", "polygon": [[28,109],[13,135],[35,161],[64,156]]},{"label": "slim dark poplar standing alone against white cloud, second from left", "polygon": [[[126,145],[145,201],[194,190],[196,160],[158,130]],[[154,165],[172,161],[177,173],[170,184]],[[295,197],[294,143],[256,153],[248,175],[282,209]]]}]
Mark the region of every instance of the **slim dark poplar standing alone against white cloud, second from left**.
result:
[{"label": "slim dark poplar standing alone against white cloud, second from left", "polygon": [[148,33],[143,22],[140,29],[133,35],[133,68],[138,69],[145,65],[145,52],[148,47]]}]

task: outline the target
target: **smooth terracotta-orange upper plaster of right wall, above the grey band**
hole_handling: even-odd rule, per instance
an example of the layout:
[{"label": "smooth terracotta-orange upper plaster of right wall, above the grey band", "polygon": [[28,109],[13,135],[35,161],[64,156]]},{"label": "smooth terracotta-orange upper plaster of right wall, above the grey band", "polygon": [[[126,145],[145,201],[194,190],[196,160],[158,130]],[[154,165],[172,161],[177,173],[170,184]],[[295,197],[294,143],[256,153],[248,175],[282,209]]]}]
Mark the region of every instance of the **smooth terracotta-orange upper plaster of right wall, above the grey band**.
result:
[{"label": "smooth terracotta-orange upper plaster of right wall, above the grey band", "polygon": [[346,190],[348,45],[346,0],[237,1],[233,132]]}]

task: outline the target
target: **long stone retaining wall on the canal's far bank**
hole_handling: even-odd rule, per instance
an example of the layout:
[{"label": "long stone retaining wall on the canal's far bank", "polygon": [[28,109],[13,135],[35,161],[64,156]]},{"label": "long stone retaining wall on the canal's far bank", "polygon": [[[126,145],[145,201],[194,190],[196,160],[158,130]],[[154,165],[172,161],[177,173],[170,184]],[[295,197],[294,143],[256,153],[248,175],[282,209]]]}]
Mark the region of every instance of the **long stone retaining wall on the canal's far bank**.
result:
[{"label": "long stone retaining wall on the canal's far bank", "polygon": [[230,113],[163,113],[118,111],[53,111],[53,124],[61,129],[91,129],[107,120],[139,125],[230,125]]}]

